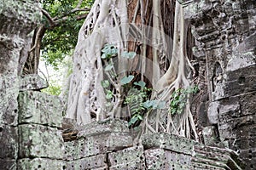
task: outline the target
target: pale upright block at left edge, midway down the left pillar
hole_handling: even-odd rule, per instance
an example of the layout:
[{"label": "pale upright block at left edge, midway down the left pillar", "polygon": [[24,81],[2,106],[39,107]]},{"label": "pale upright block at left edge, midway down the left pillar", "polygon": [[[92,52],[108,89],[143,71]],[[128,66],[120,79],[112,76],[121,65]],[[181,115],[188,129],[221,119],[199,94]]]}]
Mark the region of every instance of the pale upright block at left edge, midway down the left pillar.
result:
[{"label": "pale upright block at left edge, midway down the left pillar", "polygon": [[0,76],[0,124],[18,124],[19,79]]}]

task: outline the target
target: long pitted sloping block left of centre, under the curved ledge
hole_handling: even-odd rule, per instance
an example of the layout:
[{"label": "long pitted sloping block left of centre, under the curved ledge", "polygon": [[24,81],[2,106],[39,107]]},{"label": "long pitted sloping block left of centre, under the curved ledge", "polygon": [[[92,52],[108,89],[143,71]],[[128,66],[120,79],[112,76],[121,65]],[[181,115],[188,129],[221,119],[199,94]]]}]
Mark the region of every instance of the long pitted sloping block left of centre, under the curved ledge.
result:
[{"label": "long pitted sloping block left of centre, under the curved ledge", "polygon": [[131,145],[132,138],[129,133],[102,133],[65,142],[65,157],[67,160],[75,160],[112,150],[120,150]]}]

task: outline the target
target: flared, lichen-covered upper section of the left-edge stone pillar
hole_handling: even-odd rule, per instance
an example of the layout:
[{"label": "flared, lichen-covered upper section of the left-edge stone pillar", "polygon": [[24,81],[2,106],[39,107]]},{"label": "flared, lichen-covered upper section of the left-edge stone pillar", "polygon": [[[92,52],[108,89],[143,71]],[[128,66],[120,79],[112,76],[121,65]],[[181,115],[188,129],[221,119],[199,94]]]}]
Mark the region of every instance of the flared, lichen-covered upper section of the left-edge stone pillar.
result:
[{"label": "flared, lichen-covered upper section of the left-edge stone pillar", "polygon": [[41,20],[38,3],[3,0],[0,4],[0,74],[18,75],[24,40]]}]

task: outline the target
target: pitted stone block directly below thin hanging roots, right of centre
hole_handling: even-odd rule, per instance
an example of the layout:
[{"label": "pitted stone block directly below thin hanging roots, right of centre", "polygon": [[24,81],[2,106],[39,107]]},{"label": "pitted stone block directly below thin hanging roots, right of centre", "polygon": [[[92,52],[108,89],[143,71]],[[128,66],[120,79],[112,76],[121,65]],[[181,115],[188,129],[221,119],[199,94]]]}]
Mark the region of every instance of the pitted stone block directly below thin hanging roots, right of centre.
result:
[{"label": "pitted stone block directly below thin hanging roots, right of centre", "polygon": [[199,144],[194,140],[167,133],[144,134],[142,137],[142,142],[146,149],[157,147],[190,156],[194,152],[194,145]]}]

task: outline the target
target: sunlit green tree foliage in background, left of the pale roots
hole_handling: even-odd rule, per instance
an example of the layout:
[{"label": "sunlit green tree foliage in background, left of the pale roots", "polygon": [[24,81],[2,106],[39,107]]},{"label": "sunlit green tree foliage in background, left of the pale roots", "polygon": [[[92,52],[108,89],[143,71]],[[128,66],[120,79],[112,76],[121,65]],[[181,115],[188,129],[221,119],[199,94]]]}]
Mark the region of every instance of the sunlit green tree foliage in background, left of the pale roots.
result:
[{"label": "sunlit green tree foliage in background, left of the pale roots", "polygon": [[[90,8],[95,0],[84,0],[80,8]],[[51,25],[49,19],[44,15],[42,23],[46,31],[42,41],[43,59],[46,64],[53,65],[58,69],[58,65],[64,59],[65,54],[75,47],[79,29],[83,25],[83,18],[79,18],[87,11],[77,11],[72,13],[76,8],[79,0],[43,0],[42,7],[47,11],[52,19],[58,20],[58,24]],[[55,20],[55,21],[56,21]]]}]

